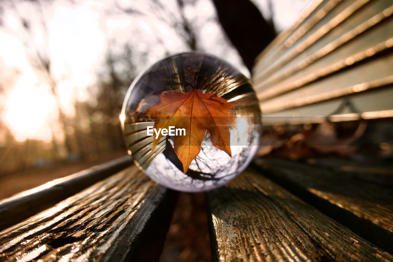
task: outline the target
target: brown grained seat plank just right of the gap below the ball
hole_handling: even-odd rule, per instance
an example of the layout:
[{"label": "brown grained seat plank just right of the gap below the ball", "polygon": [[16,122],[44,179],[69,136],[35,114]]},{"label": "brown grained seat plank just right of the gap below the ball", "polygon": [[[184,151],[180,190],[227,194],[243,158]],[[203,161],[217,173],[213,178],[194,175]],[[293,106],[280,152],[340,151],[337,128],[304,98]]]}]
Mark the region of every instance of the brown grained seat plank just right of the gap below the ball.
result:
[{"label": "brown grained seat plank just right of the gap below the ball", "polygon": [[370,244],[260,174],[208,193],[213,258],[220,261],[387,261]]}]

